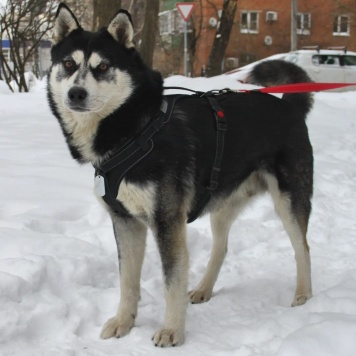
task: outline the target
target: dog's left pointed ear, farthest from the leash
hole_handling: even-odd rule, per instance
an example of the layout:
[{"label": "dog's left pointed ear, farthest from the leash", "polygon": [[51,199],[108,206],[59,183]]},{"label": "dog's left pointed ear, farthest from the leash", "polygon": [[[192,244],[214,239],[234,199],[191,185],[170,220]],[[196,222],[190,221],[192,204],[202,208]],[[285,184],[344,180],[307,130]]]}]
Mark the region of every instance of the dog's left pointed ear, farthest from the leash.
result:
[{"label": "dog's left pointed ear, farthest from the leash", "polygon": [[73,12],[67,5],[60,3],[54,20],[52,44],[62,41],[63,38],[78,28],[81,27]]}]

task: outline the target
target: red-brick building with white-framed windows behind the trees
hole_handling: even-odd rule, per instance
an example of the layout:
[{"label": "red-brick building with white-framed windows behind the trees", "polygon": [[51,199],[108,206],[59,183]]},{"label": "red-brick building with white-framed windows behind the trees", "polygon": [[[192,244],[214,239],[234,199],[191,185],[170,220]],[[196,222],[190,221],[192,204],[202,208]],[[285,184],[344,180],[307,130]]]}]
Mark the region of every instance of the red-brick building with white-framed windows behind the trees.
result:
[{"label": "red-brick building with white-framed windows behind the trees", "polygon": [[[190,42],[196,42],[190,65],[191,74],[197,76],[207,64],[224,0],[192,2],[195,8],[190,21]],[[174,9],[175,2],[168,1],[167,5]],[[176,22],[177,43],[181,31],[179,20]],[[356,51],[356,0],[298,0],[297,48],[312,45],[346,46]],[[291,0],[238,0],[223,71],[290,50]],[[169,54],[169,50],[164,51],[166,63]],[[181,68],[177,71],[182,73]]]}]

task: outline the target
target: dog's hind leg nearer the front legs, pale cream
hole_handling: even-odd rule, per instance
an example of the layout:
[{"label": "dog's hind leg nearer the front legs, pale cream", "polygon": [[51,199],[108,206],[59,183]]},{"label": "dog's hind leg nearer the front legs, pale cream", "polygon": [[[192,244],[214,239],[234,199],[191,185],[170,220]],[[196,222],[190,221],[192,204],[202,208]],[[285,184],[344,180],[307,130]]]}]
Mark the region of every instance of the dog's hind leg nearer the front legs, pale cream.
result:
[{"label": "dog's hind leg nearer the front legs, pale cream", "polygon": [[194,290],[189,292],[192,304],[204,303],[210,300],[214,284],[227,253],[230,227],[248,201],[249,198],[245,197],[239,197],[239,199],[230,197],[229,201],[222,208],[210,214],[213,246],[203,279]]}]

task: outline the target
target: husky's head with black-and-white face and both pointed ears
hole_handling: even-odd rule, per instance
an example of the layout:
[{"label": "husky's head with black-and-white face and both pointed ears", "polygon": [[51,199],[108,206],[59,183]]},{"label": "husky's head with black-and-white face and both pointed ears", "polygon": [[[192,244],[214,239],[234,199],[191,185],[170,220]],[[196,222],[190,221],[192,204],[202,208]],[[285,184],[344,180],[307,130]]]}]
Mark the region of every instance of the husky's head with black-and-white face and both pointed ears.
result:
[{"label": "husky's head with black-and-white face and both pointed ears", "polygon": [[[120,10],[107,28],[84,31],[60,4],[53,28],[49,95],[60,116],[104,118],[130,97],[137,61],[131,16]],[[138,63],[138,67],[140,63]]]}]

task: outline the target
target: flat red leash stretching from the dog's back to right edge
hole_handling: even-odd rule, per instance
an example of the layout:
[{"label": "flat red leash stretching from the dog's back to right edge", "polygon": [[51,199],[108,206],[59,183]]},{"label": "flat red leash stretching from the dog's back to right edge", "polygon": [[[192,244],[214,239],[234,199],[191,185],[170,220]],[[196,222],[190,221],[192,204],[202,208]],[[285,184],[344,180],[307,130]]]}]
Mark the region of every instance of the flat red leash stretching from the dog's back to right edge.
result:
[{"label": "flat red leash stretching from the dog's back to right edge", "polygon": [[356,83],[294,83],[294,84],[285,84],[285,85],[277,85],[268,88],[261,89],[250,89],[250,90],[239,90],[244,93],[251,92],[261,92],[261,93],[269,93],[269,94],[285,94],[285,93],[309,93],[312,91],[321,91],[321,90],[329,90],[329,89],[337,89],[349,86],[356,86]]}]

